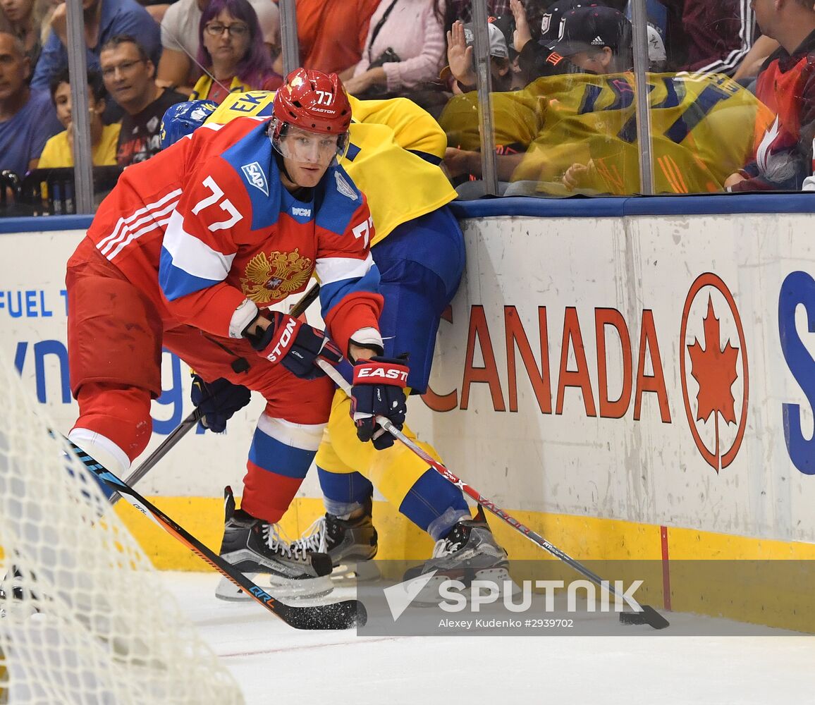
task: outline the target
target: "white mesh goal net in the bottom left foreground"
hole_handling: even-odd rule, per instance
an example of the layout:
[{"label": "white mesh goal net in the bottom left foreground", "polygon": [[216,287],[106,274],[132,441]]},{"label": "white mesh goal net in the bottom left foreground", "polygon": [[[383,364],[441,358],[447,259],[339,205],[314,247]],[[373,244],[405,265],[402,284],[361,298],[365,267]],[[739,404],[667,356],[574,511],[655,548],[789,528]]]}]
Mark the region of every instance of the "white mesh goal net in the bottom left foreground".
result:
[{"label": "white mesh goal net in the bottom left foreground", "polygon": [[242,703],[0,358],[0,703]]}]

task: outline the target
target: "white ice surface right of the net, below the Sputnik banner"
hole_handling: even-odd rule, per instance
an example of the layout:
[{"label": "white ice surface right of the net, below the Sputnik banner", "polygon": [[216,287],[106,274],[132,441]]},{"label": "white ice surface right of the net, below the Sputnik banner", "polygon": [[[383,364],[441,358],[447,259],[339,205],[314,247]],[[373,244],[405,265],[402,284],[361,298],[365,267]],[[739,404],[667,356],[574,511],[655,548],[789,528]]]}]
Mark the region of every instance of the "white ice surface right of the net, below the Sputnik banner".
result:
[{"label": "white ice surface right of the net, below the Sputnik banner", "polygon": [[242,685],[247,705],[815,703],[815,639],[785,636],[789,632],[681,636],[698,620],[710,619],[679,614],[667,614],[671,627],[663,632],[610,626],[610,633],[635,629],[636,636],[302,632],[255,602],[215,599],[218,575],[165,575],[205,641]]}]

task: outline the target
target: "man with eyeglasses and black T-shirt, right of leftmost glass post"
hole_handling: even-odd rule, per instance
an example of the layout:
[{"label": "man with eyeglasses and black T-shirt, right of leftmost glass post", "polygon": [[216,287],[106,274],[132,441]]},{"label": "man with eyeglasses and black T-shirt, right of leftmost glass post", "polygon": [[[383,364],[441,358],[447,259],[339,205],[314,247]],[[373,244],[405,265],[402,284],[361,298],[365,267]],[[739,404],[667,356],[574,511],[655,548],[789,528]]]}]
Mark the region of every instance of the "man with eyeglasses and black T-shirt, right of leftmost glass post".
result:
[{"label": "man with eyeglasses and black T-shirt, right of leftmost glass post", "polygon": [[161,116],[186,95],[156,86],[156,65],[130,34],[118,34],[99,53],[104,86],[124,111],[117,144],[117,163],[146,161],[161,151]]}]

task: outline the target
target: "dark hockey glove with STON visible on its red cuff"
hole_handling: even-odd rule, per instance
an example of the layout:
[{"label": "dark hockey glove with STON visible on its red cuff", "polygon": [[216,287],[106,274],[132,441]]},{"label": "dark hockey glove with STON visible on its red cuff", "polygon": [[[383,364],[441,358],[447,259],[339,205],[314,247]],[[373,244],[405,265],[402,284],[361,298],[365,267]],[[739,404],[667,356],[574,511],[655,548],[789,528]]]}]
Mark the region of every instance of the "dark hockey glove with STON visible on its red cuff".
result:
[{"label": "dark hockey glove with STON visible on its red cuff", "polygon": [[271,325],[261,336],[250,337],[249,341],[258,355],[271,364],[280,363],[295,377],[313,380],[325,374],[315,365],[318,357],[333,365],[341,361],[340,349],[319,328],[280,311],[269,311],[268,315]]}]

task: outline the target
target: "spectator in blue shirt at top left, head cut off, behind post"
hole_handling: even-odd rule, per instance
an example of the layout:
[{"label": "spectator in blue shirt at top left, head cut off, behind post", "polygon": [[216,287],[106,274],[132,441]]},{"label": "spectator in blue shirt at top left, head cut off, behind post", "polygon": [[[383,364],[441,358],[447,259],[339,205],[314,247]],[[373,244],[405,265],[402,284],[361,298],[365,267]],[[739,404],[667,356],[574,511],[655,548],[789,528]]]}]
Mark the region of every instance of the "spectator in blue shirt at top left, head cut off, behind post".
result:
[{"label": "spectator in blue shirt at top left, head cut off, behind post", "polygon": [[[136,37],[153,63],[161,56],[158,25],[136,0],[82,0],[82,25],[89,71],[100,70],[99,52],[117,34]],[[34,69],[32,88],[48,90],[51,80],[68,68],[67,42],[68,17],[60,2],[51,15],[51,33]]]}]

